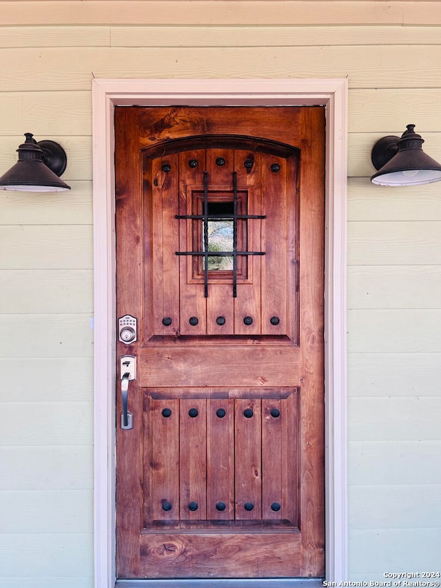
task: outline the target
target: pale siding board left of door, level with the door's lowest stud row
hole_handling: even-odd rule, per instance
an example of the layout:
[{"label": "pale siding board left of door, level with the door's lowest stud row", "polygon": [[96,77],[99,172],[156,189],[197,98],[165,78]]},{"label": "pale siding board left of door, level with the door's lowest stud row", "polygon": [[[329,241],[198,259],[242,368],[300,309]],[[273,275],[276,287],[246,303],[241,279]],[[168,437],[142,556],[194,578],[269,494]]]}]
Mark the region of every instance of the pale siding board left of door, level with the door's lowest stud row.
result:
[{"label": "pale siding board left of door, level with the door's lowest stud row", "polygon": [[92,489],[0,490],[0,501],[3,534],[92,533]]}]

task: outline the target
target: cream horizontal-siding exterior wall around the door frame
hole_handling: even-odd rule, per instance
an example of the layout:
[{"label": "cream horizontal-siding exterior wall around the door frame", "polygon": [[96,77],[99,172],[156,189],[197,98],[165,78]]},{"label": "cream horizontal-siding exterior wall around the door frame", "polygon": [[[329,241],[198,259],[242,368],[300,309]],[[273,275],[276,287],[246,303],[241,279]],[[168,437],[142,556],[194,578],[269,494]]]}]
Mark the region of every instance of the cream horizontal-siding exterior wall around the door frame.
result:
[{"label": "cream horizontal-siding exterior wall around the door frame", "polygon": [[415,4],[0,1],[0,173],[32,132],[72,185],[0,196],[0,588],[93,585],[92,77],[349,77],[349,577],[440,571],[441,184],[369,183],[408,123],[441,161]]}]

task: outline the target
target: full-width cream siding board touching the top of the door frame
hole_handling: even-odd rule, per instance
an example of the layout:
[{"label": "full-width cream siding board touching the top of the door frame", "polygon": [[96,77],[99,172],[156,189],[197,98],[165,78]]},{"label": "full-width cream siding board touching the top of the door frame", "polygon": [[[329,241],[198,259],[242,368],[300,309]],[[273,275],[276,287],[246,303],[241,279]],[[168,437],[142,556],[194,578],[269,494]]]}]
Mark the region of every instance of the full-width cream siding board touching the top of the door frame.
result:
[{"label": "full-width cream siding board touching the top of the door frame", "polygon": [[344,78],[349,88],[437,88],[438,45],[4,49],[3,92],[88,90],[92,77]]}]

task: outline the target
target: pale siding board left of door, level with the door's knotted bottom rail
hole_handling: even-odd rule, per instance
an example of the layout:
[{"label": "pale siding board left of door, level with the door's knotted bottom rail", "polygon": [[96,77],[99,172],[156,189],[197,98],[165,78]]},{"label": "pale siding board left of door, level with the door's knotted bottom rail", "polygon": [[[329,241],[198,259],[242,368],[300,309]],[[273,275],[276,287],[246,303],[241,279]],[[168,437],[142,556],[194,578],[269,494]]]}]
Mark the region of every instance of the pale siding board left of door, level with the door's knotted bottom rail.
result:
[{"label": "pale siding board left of door, level with the door's knotted bottom rail", "polygon": [[15,533],[1,536],[0,569],[11,576],[26,566],[25,576],[87,576],[93,563],[92,533]]}]

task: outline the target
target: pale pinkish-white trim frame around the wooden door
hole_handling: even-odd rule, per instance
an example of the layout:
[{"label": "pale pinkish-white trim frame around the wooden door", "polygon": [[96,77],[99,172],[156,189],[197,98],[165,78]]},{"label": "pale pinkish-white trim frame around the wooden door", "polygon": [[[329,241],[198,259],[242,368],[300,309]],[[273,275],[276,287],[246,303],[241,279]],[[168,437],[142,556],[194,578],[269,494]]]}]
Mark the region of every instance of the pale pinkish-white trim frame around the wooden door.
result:
[{"label": "pale pinkish-white trim frame around the wooden door", "polygon": [[[325,105],[326,579],[347,580],[347,79],[93,79],[94,587],[115,585],[114,107]],[[176,585],[178,582],[174,580]],[[219,580],[217,580],[219,582]],[[278,580],[274,580],[274,586]]]}]

